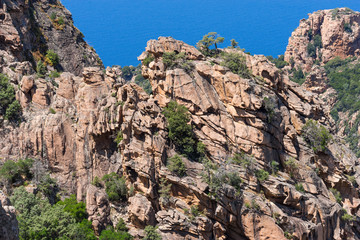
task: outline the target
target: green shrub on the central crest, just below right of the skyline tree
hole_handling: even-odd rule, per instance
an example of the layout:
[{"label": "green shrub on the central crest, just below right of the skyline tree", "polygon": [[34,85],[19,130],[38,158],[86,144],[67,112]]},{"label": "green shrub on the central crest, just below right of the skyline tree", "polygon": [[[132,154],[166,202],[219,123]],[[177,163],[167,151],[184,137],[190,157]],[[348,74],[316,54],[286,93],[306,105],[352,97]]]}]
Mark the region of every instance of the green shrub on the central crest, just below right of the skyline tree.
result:
[{"label": "green shrub on the central crest, just below right of the skyline tree", "polygon": [[223,61],[221,65],[227,67],[235,74],[243,78],[251,78],[251,72],[246,66],[246,58],[240,53],[227,53],[222,52],[221,58]]}]

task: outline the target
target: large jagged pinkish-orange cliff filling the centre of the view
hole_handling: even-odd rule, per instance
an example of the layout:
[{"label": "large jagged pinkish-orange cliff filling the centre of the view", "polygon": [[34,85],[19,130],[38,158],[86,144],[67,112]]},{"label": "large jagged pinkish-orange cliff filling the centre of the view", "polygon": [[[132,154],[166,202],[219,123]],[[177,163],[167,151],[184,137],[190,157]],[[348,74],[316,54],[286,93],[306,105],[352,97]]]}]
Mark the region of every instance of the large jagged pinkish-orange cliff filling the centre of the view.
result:
[{"label": "large jagged pinkish-orange cliff filling the centre of the view", "polygon": [[[223,66],[220,55],[206,57],[172,38],[150,40],[139,57],[142,74],[152,85],[149,96],[136,84],[126,83],[116,68],[88,67],[95,60],[84,62],[56,48],[57,41],[67,42],[68,36],[78,34],[68,24],[57,29],[45,17],[55,8],[70,23],[62,7],[45,1],[1,3],[6,17],[0,46],[6,60],[0,69],[15,86],[23,109],[19,125],[1,119],[1,158],[31,157],[46,163],[62,189],[86,200],[97,233],[121,217],[137,239],[147,225],[157,225],[164,239],[360,238],[359,222],[342,219],[345,211],[360,217],[358,159],[336,137],[330,106],[306,86],[291,82],[286,71],[264,56],[219,50],[245,60],[250,73],[241,77]],[[27,16],[29,9],[37,12],[36,19],[49,20],[48,29],[41,27],[43,34],[55,31],[59,37],[44,41],[71,73],[63,72],[53,81],[35,74],[35,59],[29,55],[37,46],[33,32],[23,34],[17,21],[9,20]],[[24,18],[19,22],[28,24],[30,18]],[[75,56],[88,48],[79,41],[68,44]],[[96,59],[94,52],[86,51]],[[182,65],[165,64],[164,54],[169,52],[181,54]],[[323,77],[319,73],[313,79]],[[241,183],[224,181],[214,196],[202,176],[210,173],[205,161],[181,156],[186,176],[169,170],[168,159],[178,149],[169,138],[163,109],[174,100],[189,109],[194,136],[204,144],[205,157],[217,166],[214,176],[235,173]],[[303,138],[303,126],[310,119],[334,134],[323,151],[314,151]],[[251,166],[236,164],[236,154],[251,158]],[[274,165],[276,173],[258,176],[274,172]],[[91,184],[110,172],[125,177],[132,189],[127,201],[110,202],[103,188]],[[171,184],[166,196],[161,194],[164,180]],[[340,201],[334,196],[337,192]]]}]

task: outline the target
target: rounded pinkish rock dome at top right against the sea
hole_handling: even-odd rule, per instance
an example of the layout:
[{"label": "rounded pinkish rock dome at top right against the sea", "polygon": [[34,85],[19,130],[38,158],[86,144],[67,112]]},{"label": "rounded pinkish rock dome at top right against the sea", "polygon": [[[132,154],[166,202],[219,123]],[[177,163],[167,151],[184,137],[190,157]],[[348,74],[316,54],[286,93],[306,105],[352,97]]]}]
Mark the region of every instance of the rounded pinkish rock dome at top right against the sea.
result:
[{"label": "rounded pinkish rock dome at top right against the sea", "polygon": [[[342,59],[360,54],[360,13],[348,8],[321,10],[302,19],[291,34],[285,52],[285,60],[294,62],[307,72],[315,60],[326,63],[335,56]],[[321,36],[321,47],[316,56],[309,55],[309,44],[315,36]]]}]

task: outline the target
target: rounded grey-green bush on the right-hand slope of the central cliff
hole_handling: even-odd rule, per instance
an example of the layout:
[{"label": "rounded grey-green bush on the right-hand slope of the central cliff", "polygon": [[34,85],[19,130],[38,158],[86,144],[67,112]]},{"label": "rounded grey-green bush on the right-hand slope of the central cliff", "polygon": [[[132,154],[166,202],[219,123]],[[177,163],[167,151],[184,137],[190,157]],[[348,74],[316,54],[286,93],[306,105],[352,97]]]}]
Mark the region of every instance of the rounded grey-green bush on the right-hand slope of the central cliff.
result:
[{"label": "rounded grey-green bush on the right-hand slope of the central cliff", "polygon": [[306,121],[302,127],[301,135],[314,152],[324,152],[332,139],[329,131],[312,119]]}]

